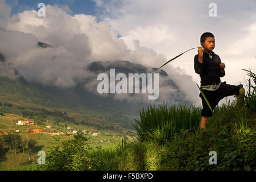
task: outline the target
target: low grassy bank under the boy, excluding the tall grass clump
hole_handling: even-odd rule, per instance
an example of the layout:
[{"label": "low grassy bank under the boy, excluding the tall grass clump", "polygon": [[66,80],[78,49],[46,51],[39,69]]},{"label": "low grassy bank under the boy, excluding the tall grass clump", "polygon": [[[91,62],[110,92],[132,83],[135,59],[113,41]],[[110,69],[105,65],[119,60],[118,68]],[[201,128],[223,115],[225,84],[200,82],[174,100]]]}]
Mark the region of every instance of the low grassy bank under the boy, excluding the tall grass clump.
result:
[{"label": "low grassy bank under the boy, excluding the tall grass clump", "polygon": [[[234,114],[236,113],[236,115]],[[222,105],[203,133],[183,129],[160,144],[155,139],[120,143],[105,151],[98,169],[105,170],[255,170],[255,113]],[[216,151],[217,165],[209,164],[209,152]]]}]

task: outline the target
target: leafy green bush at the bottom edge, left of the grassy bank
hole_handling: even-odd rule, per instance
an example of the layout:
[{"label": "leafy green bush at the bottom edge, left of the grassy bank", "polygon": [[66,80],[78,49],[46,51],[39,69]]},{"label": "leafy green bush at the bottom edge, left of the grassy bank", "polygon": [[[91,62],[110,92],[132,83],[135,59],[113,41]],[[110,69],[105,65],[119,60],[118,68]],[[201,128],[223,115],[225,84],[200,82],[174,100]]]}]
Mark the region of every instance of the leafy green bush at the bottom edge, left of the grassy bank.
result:
[{"label": "leafy green bush at the bottom edge, left of the grassy bank", "polygon": [[63,170],[91,170],[99,165],[98,156],[90,154],[92,149],[88,144],[89,138],[83,137],[78,131],[72,140],[56,142],[46,155],[46,164],[38,166],[39,169],[63,171]]}]

